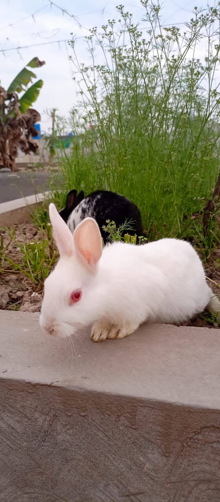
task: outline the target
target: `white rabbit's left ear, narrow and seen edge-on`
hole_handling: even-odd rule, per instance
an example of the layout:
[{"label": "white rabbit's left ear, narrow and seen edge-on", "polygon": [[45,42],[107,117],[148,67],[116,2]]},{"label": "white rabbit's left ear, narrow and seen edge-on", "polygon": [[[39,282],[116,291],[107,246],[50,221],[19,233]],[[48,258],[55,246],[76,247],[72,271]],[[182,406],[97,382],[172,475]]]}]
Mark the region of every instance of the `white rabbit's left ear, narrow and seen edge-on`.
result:
[{"label": "white rabbit's left ear, narrow and seen edge-on", "polygon": [[50,204],[49,214],[60,256],[72,256],[75,249],[73,234],[61,218],[54,204]]}]

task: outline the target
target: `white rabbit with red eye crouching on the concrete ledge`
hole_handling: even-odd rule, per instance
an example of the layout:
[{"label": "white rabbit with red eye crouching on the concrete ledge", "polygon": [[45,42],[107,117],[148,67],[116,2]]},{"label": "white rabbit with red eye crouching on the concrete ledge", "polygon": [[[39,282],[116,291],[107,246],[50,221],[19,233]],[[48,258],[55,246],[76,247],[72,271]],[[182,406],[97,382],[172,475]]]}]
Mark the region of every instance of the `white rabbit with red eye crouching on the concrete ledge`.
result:
[{"label": "white rabbit with red eye crouching on the concrete ledge", "polygon": [[85,218],[71,233],[54,204],[50,219],[60,260],[45,281],[40,325],[60,337],[93,325],[91,339],[123,338],[144,321],[181,323],[220,301],[205,282],[193,247],[177,239],[102,249],[99,227]]}]

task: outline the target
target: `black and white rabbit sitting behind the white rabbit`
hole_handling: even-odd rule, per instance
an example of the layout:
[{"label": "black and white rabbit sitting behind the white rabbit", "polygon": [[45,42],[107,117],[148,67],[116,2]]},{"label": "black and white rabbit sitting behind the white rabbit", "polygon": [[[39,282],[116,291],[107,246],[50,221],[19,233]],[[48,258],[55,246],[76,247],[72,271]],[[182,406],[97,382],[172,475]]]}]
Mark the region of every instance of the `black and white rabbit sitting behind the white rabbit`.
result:
[{"label": "black and white rabbit sitting behind the white rabbit", "polygon": [[132,229],[125,230],[129,234],[143,235],[141,214],[138,207],[122,195],[107,190],[97,190],[86,197],[83,190],[77,195],[76,190],[71,190],[67,195],[66,207],[61,209],[60,216],[67,223],[73,233],[77,225],[87,217],[94,218],[103,237],[107,242],[108,233],[102,228],[106,220],[114,221],[118,228],[125,220],[132,221]]}]

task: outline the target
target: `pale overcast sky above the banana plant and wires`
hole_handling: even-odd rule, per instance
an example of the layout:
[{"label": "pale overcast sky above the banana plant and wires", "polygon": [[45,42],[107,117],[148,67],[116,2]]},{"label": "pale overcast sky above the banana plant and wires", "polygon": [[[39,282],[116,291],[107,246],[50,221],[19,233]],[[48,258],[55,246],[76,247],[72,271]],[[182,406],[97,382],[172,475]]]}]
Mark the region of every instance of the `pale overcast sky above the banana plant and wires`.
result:
[{"label": "pale overcast sky above the banana plant and wires", "polygon": [[[124,2],[124,5],[133,13],[135,22],[140,22],[140,27],[144,31],[148,28],[141,21],[144,9],[137,0],[130,0],[130,2]],[[115,10],[116,0],[81,0],[81,2],[55,0],[55,4],[68,11],[69,14],[77,16],[78,23],[57,7],[51,8],[50,0],[32,0],[31,2],[30,0],[1,0],[0,50],[4,50],[0,52],[1,85],[7,88],[15,75],[34,56],[46,61],[45,66],[36,69],[38,78],[44,80],[44,86],[35,104],[36,109],[41,113],[44,131],[50,127],[50,120],[44,113],[46,108],[56,107],[61,115],[67,115],[77,101],[77,87],[72,79],[73,66],[68,60],[71,48],[65,42],[56,42],[19,50],[7,51],[7,49],[68,40],[71,38],[70,33],[83,37],[88,35],[89,28],[97,26],[101,29],[109,18],[119,18]],[[190,2],[164,0],[162,24],[175,25],[189,21],[194,5],[200,7],[205,4],[200,1],[195,3],[194,0]],[[80,38],[77,43],[77,52],[80,62],[86,61],[87,54],[83,38]]]}]

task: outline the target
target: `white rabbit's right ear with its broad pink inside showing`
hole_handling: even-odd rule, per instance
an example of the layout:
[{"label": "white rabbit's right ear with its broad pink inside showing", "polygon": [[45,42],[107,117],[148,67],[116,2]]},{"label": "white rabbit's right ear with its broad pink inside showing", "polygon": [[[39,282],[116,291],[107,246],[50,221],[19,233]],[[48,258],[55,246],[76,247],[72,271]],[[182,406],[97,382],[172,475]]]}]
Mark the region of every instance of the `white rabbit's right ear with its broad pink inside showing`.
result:
[{"label": "white rabbit's right ear with its broad pink inside showing", "polygon": [[94,268],[102,256],[102,237],[93,218],[85,218],[73,234],[79,257],[84,265]]}]

